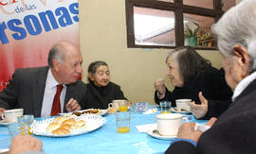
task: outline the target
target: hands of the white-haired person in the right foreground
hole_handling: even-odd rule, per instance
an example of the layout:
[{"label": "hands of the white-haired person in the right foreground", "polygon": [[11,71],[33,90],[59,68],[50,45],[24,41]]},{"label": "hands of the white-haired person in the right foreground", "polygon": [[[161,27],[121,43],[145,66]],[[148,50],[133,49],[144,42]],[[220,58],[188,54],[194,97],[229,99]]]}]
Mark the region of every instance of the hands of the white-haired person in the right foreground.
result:
[{"label": "hands of the white-haired person in the right foreground", "polygon": [[[211,118],[206,126],[211,127],[216,120],[216,118]],[[177,138],[190,139],[197,143],[203,132],[200,130],[195,131],[194,126],[195,123],[184,123],[180,128],[178,128]]]}]

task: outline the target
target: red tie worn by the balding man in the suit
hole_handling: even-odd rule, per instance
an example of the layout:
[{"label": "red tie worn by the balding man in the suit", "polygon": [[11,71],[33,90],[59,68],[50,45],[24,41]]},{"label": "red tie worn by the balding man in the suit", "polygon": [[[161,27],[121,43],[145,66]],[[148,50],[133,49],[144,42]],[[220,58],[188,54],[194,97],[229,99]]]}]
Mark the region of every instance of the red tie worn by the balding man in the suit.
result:
[{"label": "red tie worn by the balding man in the suit", "polygon": [[64,88],[63,85],[61,85],[61,84],[57,85],[57,92],[53,99],[50,116],[58,115],[61,112],[60,96],[61,96],[63,88]]}]

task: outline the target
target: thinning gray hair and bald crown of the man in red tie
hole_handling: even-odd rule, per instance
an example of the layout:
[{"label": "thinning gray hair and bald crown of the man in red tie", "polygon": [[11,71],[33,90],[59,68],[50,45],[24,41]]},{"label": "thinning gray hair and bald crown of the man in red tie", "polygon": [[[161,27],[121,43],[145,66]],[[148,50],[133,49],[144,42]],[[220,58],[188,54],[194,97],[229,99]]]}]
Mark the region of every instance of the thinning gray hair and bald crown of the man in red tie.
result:
[{"label": "thinning gray hair and bald crown of the man in red tie", "polygon": [[64,62],[64,46],[61,43],[54,44],[48,54],[48,66],[53,67],[53,60],[56,59],[59,62]]}]

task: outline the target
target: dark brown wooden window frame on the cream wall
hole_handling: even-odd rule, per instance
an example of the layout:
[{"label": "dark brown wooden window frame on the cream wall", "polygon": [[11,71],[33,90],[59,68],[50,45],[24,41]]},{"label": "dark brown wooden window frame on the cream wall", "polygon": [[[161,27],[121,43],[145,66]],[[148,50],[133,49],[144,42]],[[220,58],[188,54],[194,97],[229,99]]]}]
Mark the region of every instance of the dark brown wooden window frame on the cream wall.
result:
[{"label": "dark brown wooden window frame on the cream wall", "polygon": [[[183,0],[174,0],[174,3],[157,1],[157,0],[125,0],[127,47],[128,48],[175,48],[178,46],[183,46],[184,45],[183,13],[190,13],[194,15],[212,17],[214,18],[214,21],[216,23],[224,14],[224,11],[222,10],[222,6],[223,6],[222,0],[213,0],[213,9],[206,9],[206,8],[184,5]],[[134,7],[174,11],[175,46],[136,44],[135,29],[134,29]],[[194,48],[208,49],[208,50],[216,49],[216,47],[198,47],[198,46]]]}]

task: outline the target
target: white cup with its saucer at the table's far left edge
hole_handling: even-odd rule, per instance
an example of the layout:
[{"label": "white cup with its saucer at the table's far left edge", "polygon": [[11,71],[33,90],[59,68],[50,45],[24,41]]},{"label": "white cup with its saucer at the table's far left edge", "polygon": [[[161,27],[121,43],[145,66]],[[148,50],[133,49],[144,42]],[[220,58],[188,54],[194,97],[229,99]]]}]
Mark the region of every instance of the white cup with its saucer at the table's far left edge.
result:
[{"label": "white cup with its saucer at the table's far left edge", "polygon": [[2,114],[2,119],[0,120],[0,126],[9,126],[11,124],[17,123],[17,117],[23,115],[23,109],[13,109],[6,110]]}]

